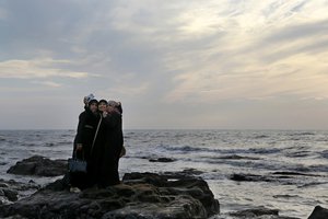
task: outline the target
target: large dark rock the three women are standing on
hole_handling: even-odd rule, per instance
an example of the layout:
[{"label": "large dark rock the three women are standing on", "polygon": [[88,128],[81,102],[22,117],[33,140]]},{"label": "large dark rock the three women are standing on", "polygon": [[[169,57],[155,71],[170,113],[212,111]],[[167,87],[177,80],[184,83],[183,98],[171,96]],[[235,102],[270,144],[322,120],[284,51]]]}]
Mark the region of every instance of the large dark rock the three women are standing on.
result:
[{"label": "large dark rock the three women are standing on", "polygon": [[219,211],[219,201],[201,178],[173,181],[154,173],[129,173],[119,185],[81,193],[60,191],[60,182],[55,182],[0,206],[0,218],[208,218]]}]

